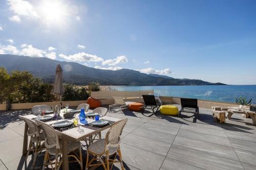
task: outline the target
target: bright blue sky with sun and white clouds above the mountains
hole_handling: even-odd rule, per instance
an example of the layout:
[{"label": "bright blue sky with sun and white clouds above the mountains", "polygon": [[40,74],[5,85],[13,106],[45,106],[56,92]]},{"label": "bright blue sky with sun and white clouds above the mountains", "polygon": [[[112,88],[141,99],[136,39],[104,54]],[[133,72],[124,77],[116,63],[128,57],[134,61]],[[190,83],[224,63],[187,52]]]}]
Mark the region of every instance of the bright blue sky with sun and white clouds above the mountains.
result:
[{"label": "bright blue sky with sun and white clouds above the mountains", "polygon": [[0,54],[256,84],[254,0],[0,0],[0,13]]}]

